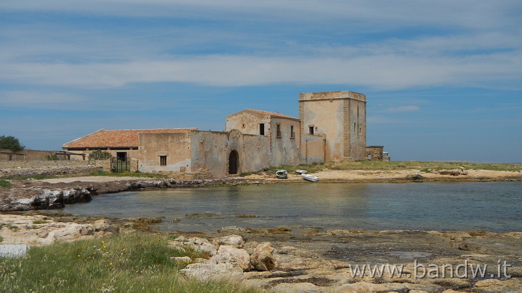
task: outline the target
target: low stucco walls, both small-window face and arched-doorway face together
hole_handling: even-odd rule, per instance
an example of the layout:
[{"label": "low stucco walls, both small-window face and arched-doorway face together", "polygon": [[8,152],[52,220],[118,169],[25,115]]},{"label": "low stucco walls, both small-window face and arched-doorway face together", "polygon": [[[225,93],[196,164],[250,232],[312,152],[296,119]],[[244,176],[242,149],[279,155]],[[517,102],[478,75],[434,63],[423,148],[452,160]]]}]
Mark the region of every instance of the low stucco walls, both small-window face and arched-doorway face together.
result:
[{"label": "low stucco walls, both small-window face and arched-doorway face together", "polygon": [[[270,138],[245,135],[239,130],[198,131],[139,135],[140,172],[196,172],[208,169],[211,177],[228,176],[229,156],[238,152],[238,172],[270,166]],[[160,165],[160,156],[167,164]]]}]

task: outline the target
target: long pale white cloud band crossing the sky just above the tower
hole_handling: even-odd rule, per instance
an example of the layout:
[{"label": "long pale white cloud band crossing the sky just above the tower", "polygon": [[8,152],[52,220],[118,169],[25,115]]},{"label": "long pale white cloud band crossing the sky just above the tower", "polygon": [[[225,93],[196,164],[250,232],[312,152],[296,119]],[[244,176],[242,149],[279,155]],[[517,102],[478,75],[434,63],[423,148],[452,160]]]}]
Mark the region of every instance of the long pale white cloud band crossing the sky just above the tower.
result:
[{"label": "long pale white cloud band crossing the sky just above the tower", "polygon": [[88,88],[134,82],[188,82],[219,87],[312,83],[360,84],[381,89],[442,85],[494,88],[496,82],[521,80],[521,67],[520,57],[512,53],[437,58],[207,55],[126,63],[7,63],[2,65],[0,80]]}]

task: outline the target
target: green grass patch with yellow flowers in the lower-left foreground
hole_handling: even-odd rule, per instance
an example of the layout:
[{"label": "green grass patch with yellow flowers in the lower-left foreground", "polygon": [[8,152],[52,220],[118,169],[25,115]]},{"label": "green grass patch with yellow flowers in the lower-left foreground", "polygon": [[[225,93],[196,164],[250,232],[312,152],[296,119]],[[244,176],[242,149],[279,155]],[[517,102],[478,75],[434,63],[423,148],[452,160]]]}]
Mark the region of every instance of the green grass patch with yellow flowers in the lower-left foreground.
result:
[{"label": "green grass patch with yellow flowers in the lower-left foreground", "polygon": [[[6,292],[262,292],[239,283],[186,280],[170,260],[184,256],[163,235],[120,235],[31,247],[21,259],[0,258]],[[188,252],[191,258],[200,255]]]}]

